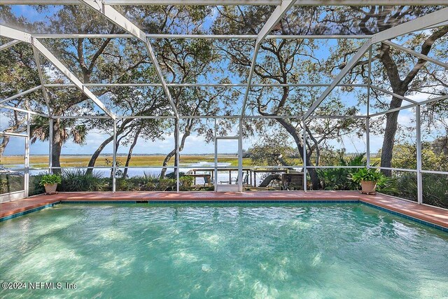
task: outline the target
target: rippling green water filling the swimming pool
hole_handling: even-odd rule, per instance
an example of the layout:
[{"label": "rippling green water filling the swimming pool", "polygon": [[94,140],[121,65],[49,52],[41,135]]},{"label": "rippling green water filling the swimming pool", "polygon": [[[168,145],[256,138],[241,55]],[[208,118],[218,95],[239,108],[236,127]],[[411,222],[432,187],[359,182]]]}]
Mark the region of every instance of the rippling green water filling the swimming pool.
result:
[{"label": "rippling green water filling the swimming pool", "polygon": [[363,204],[59,204],[0,223],[1,298],[448,298],[448,234]]}]

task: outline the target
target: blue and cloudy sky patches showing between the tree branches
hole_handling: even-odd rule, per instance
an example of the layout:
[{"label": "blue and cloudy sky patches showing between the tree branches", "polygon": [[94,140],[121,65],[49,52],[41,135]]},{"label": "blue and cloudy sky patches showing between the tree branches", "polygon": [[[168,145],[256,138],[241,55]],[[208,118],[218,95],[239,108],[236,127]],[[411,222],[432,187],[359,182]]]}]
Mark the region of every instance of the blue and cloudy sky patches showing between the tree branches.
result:
[{"label": "blue and cloudy sky patches showing between the tree branches", "polygon": [[[17,15],[24,15],[26,16],[27,20],[29,21],[36,21],[36,20],[43,20],[42,16],[36,13],[34,8],[30,8],[29,6],[14,6],[13,11]],[[214,12],[213,17],[210,18],[205,24],[205,27],[209,26],[209,22],[216,18],[216,10]],[[328,46],[335,46],[336,40],[330,40],[328,43]],[[316,50],[316,57],[318,59],[322,59],[324,57],[328,57],[328,48],[320,48]],[[298,62],[297,62],[298,63]],[[225,65],[223,65],[223,68]],[[225,76],[229,76],[232,79],[232,73],[228,71],[227,69],[223,69],[223,74]],[[239,82],[234,82],[239,83]],[[413,98],[414,97],[414,98]],[[426,99],[427,95],[415,95],[410,96],[412,99],[416,99],[419,97],[418,100]],[[356,103],[356,98],[354,95],[346,95],[344,98],[344,101],[347,106],[352,106]],[[363,115],[365,115],[365,111],[360,111]],[[413,111],[406,110],[402,111],[400,113],[398,123],[400,125],[405,126],[414,126],[414,120],[413,120]],[[3,130],[7,126],[7,119],[4,115],[0,114],[0,127]],[[92,154],[94,150],[99,146],[99,144],[109,137],[109,135],[102,134],[101,132],[91,130],[87,136],[87,142],[85,145],[80,146],[77,144],[73,144],[73,142],[69,141],[66,144],[64,144],[64,148],[62,150],[62,154],[66,155],[73,155],[73,154]],[[134,153],[136,154],[155,154],[155,153],[168,153],[169,151],[174,148],[174,137],[165,135],[164,140],[160,141],[145,141],[143,139],[140,139],[137,143],[137,146],[134,148]],[[248,149],[255,141],[258,139],[251,138],[251,139],[244,139],[243,142],[243,148]],[[381,148],[383,137],[381,134],[371,134],[370,136],[370,149],[371,153],[377,153],[379,148]],[[330,141],[330,145],[335,146],[335,148],[346,148],[346,151],[349,153],[355,153],[355,152],[365,152],[366,151],[366,141],[364,138],[358,138],[355,136],[352,137],[344,137],[341,142],[338,141]],[[24,141],[21,140],[18,137],[11,138],[10,144],[8,144],[8,147],[6,148],[5,154],[6,155],[17,155],[22,154],[25,148]],[[235,145],[225,145],[223,144],[222,150],[223,153],[233,153],[237,151],[237,148]],[[109,146],[106,146],[103,153],[111,153],[112,152],[112,146],[109,144]],[[186,146],[183,153],[190,154],[190,153],[213,153],[214,152],[214,144],[209,143],[207,144],[204,141],[204,137],[198,136],[197,134],[193,133],[188,139],[186,140]],[[32,154],[38,154],[43,155],[48,153],[48,142],[36,142],[36,144],[31,145],[31,155]],[[127,148],[120,146],[118,153],[127,153]]]}]

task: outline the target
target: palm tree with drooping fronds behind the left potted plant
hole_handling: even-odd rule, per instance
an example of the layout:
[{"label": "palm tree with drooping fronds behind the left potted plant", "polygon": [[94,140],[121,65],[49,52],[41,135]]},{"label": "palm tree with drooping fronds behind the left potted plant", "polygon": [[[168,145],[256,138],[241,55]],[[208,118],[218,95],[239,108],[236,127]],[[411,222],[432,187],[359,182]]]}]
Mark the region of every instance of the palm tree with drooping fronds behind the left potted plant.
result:
[{"label": "palm tree with drooping fronds behind the left potted plant", "polygon": [[[31,121],[30,137],[31,144],[37,140],[48,141],[50,138],[50,120],[42,116],[36,116]],[[85,125],[76,125],[74,119],[53,120],[53,140],[52,140],[52,166],[60,167],[61,150],[66,141],[71,139],[75,144],[84,144],[87,136]],[[59,173],[60,169],[54,169],[53,172]]]}]

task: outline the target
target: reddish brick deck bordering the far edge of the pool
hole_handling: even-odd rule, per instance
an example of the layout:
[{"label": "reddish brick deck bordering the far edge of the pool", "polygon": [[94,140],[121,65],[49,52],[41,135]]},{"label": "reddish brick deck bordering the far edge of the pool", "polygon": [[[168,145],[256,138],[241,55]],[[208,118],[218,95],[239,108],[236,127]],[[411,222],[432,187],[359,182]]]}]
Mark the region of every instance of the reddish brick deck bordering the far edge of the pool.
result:
[{"label": "reddish brick deck bordering the far edge of the pool", "polygon": [[48,204],[64,202],[126,202],[126,201],[297,201],[297,200],[353,200],[373,204],[374,206],[404,214],[406,216],[440,225],[448,228],[448,210],[416,204],[407,200],[400,200],[387,195],[364,195],[358,191],[274,191],[274,192],[246,192],[246,193],[214,193],[214,192],[85,192],[58,193],[55,195],[36,195],[23,200],[3,202],[0,204],[0,218],[29,211]]}]

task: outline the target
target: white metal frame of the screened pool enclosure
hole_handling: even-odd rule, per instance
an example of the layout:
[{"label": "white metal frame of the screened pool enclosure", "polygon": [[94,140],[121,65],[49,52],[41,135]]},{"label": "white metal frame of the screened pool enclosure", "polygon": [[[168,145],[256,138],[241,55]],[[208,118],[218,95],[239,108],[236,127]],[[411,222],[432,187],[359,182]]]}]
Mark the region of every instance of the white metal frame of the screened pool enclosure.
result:
[{"label": "white metal frame of the screened pool enclosure", "polygon": [[[216,141],[218,139],[223,139],[226,137],[216,137],[216,120],[218,119],[224,119],[224,118],[234,118],[235,120],[239,120],[239,134],[237,137],[227,137],[232,139],[237,139],[239,141],[239,177],[242,178],[242,122],[245,118],[289,118],[289,119],[295,119],[302,121],[303,126],[303,136],[302,138],[304,141],[307,139],[306,136],[306,123],[305,120],[307,118],[365,118],[366,122],[366,140],[367,140],[367,167],[370,166],[370,119],[375,116],[381,116],[386,113],[391,113],[393,111],[400,111],[403,109],[409,109],[415,107],[415,113],[416,113],[416,132],[417,132],[417,166],[416,169],[398,169],[398,168],[385,168],[385,167],[374,167],[374,168],[382,168],[382,169],[391,169],[395,171],[407,171],[407,172],[416,172],[417,174],[417,186],[418,186],[418,202],[421,204],[422,199],[422,174],[429,173],[429,174],[448,174],[448,172],[437,172],[437,171],[430,171],[430,170],[424,170],[421,166],[421,112],[420,108],[422,105],[429,104],[431,102],[436,101],[442,101],[444,99],[448,99],[448,96],[440,96],[435,97],[433,99],[428,99],[423,102],[416,102],[412,99],[409,99],[407,97],[403,97],[400,95],[395,94],[394,92],[391,92],[389,90],[385,90],[383,88],[379,88],[377,86],[372,85],[371,82],[371,69],[372,69],[372,46],[376,43],[386,43],[388,46],[391,46],[393,48],[396,48],[398,50],[401,50],[405,53],[408,53],[410,55],[414,55],[415,57],[419,57],[420,59],[426,60],[428,62],[431,62],[433,64],[437,64],[440,67],[443,67],[444,69],[448,69],[448,64],[445,62],[440,62],[438,60],[435,60],[431,57],[428,57],[427,55],[422,55],[421,53],[418,53],[414,50],[405,48],[404,46],[400,46],[397,43],[393,43],[393,41],[390,41],[391,39],[394,39],[397,36],[407,34],[409,32],[415,32],[422,29],[428,29],[433,28],[441,25],[447,25],[448,24],[448,8],[443,8],[440,11],[436,11],[435,13],[430,13],[429,15],[425,15],[421,18],[417,18],[415,20],[411,20],[409,22],[405,22],[401,25],[395,26],[391,29],[386,29],[383,32],[379,32],[377,34],[373,34],[372,36],[365,36],[365,35],[329,35],[329,36],[321,36],[321,35],[311,35],[311,36],[302,36],[302,35],[269,35],[269,32],[272,31],[272,28],[276,25],[277,22],[283,18],[283,15],[294,5],[300,5],[300,6],[316,6],[316,5],[335,5],[335,6],[367,6],[367,5],[423,5],[422,1],[420,0],[222,0],[220,1],[220,5],[272,5],[276,6],[274,12],[269,17],[265,25],[262,27],[260,32],[257,35],[248,35],[248,34],[241,34],[241,35],[215,35],[215,34],[204,34],[204,35],[198,35],[198,34],[146,34],[139,27],[134,25],[130,20],[127,20],[125,16],[118,13],[118,11],[115,10],[111,5],[216,5],[216,1],[214,0],[0,0],[0,4],[56,4],[56,5],[62,5],[62,4],[83,4],[85,6],[88,6],[98,13],[101,13],[104,15],[108,20],[115,23],[116,25],[122,27],[125,29],[128,34],[29,34],[27,32],[23,32],[17,29],[13,29],[10,27],[6,27],[4,25],[0,25],[0,35],[6,36],[10,39],[13,39],[12,41],[5,43],[0,46],[1,50],[7,50],[10,47],[13,47],[17,45],[18,43],[29,43],[33,47],[34,50],[34,58],[36,60],[36,66],[38,68],[38,75],[41,79],[41,85],[38,85],[34,88],[30,88],[29,90],[22,91],[18,93],[17,95],[13,95],[11,97],[8,97],[6,99],[0,100],[0,108],[1,109],[11,109],[14,111],[19,111],[22,113],[26,113],[27,115],[27,134],[18,134],[18,133],[6,133],[6,132],[0,132],[0,135],[10,135],[10,136],[20,136],[20,137],[26,137],[27,138],[27,145],[26,145],[26,153],[25,153],[25,176],[26,179],[26,188],[25,188],[25,196],[29,192],[29,120],[31,115],[38,115],[38,116],[45,116],[50,118],[50,140],[52,139],[52,123],[54,119],[57,118],[79,118],[79,119],[88,119],[88,118],[112,118],[113,119],[113,173],[115,174],[117,168],[123,168],[123,167],[117,167],[116,165],[116,141],[117,141],[117,131],[116,131],[116,122],[117,119],[120,118],[176,118],[176,119],[186,119],[186,118],[209,118],[215,120],[215,146],[217,146]],[[426,1],[424,5],[447,5],[446,0],[430,0]],[[156,72],[158,74],[158,78],[160,79],[160,83],[82,83],[74,74],[72,74],[69,69],[64,67],[64,64],[60,62],[57,57],[52,55],[50,50],[45,48],[45,46],[42,45],[38,39],[63,39],[63,38],[117,38],[117,39],[128,39],[132,37],[136,37],[140,41],[143,41],[146,50],[148,50],[148,53],[151,57],[151,60],[154,64],[154,67],[156,69]],[[155,56],[155,53],[151,47],[151,43],[148,39],[254,39],[255,40],[255,48],[253,53],[253,59],[251,63],[251,68],[249,70],[248,78],[246,83],[236,83],[236,84],[218,84],[218,83],[167,83],[165,81],[164,76],[162,75],[162,71],[160,69],[160,65],[158,64],[157,57]],[[363,43],[363,46],[358,50],[355,55],[349,60],[349,62],[346,64],[344,69],[339,72],[339,74],[336,76],[336,78],[332,81],[332,83],[327,84],[307,84],[307,83],[288,83],[288,84],[252,84],[251,79],[253,77],[253,71],[255,69],[255,64],[258,56],[258,50],[260,48],[260,44],[265,39],[363,39],[365,42]],[[367,53],[368,51],[368,81],[367,84],[340,84],[344,76],[349,73],[349,71],[356,65],[356,63]],[[71,81],[71,84],[45,84],[43,81],[43,74],[41,69],[41,63],[39,61],[39,55],[43,55],[47,60],[49,60],[57,69],[62,71],[62,73],[69,78]],[[174,111],[173,116],[116,116],[113,112],[111,112],[92,92],[90,92],[89,87],[95,87],[95,86],[136,86],[136,87],[142,87],[142,86],[153,86],[153,87],[162,87],[165,91],[165,95],[167,96],[167,99],[169,100],[169,103],[172,106],[172,109]],[[246,88],[246,92],[244,95],[244,104],[241,107],[241,114],[239,116],[180,116],[178,111],[176,110],[176,106],[174,102],[172,101],[172,97],[169,92],[170,86],[184,86],[184,87],[195,87],[195,86],[203,86],[203,87],[213,87],[213,86],[222,86],[222,87],[229,87],[229,88]],[[268,86],[268,87],[281,87],[281,86],[290,86],[290,87],[306,87],[306,86],[323,86],[327,87],[325,91],[322,93],[320,97],[314,102],[314,104],[310,107],[310,109],[304,113],[303,116],[247,116],[245,113],[246,110],[246,102],[248,99],[248,92],[251,88],[251,86],[256,87],[262,87],[262,86]],[[337,86],[353,86],[353,87],[361,87],[361,88],[367,88],[367,115],[366,116],[318,116],[314,115],[315,109],[318,107],[323,100],[330,94],[330,92],[336,88]],[[79,88],[87,97],[92,99],[92,101],[99,106],[100,109],[104,111],[106,115],[104,116],[55,116],[52,115],[50,102],[48,99],[48,88],[66,88],[66,87],[76,87]],[[43,113],[37,113],[35,111],[29,111],[26,109],[20,109],[13,106],[7,106],[3,105],[7,102],[12,101],[13,99],[18,99],[19,97],[22,97],[24,95],[29,94],[30,92],[34,92],[38,89],[41,89],[43,92],[43,97],[45,99],[45,104],[48,108],[48,115]],[[409,102],[409,105],[401,106],[397,109],[390,109],[388,111],[381,111],[378,113],[370,113],[370,96],[371,96],[371,90],[379,90],[379,92],[384,92],[387,95],[391,95],[393,97],[398,97],[400,99],[405,100],[406,102]],[[177,178],[177,187],[176,189],[179,191],[179,122],[177,122],[177,125],[175,127],[178,137],[178,140],[176,140],[176,160],[178,161],[177,165],[174,165],[174,168],[176,169],[176,178]],[[217,148],[216,148],[217,149]],[[61,167],[52,167],[52,142],[49,142],[49,155],[50,155],[50,162],[49,162],[49,171],[52,172],[52,169],[61,168]],[[302,165],[304,169],[304,173],[307,173],[308,169],[321,169],[321,168],[331,168],[332,166],[307,166],[307,160],[306,160],[306,146],[304,146],[304,163]],[[215,155],[215,179],[217,178],[217,156]],[[300,167],[297,165],[294,165],[294,167]],[[111,167],[94,167],[94,168],[111,168]],[[132,168],[132,167],[128,167]],[[160,167],[163,168],[163,167]],[[253,167],[254,169],[256,167]],[[265,167],[269,168],[269,167]],[[216,186],[216,184],[215,184]],[[239,180],[239,190],[242,190],[242,180]],[[304,190],[307,190],[307,176],[304,176]],[[115,175],[113,176],[113,191],[116,191],[116,179]]]}]

